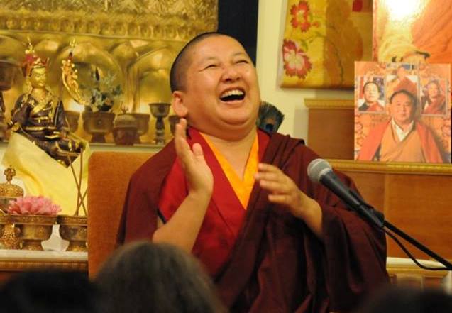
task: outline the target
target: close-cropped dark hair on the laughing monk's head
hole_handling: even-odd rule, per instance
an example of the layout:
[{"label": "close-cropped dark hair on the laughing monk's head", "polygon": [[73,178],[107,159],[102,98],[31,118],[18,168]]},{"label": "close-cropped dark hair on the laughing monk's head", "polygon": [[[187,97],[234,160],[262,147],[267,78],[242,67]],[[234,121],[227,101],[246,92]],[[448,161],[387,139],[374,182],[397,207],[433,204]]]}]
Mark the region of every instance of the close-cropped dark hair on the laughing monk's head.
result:
[{"label": "close-cropped dark hair on the laughing monk's head", "polygon": [[217,32],[201,33],[192,38],[192,40],[189,40],[189,42],[186,45],[184,45],[184,48],[180,50],[180,53],[177,54],[177,57],[175,58],[174,62],[172,62],[171,65],[170,70],[171,92],[175,92],[176,90],[183,90],[185,87],[185,72],[187,71],[187,68],[190,63],[189,52],[192,50],[194,45],[199,43],[199,41],[214,36],[228,36],[228,35]]}]

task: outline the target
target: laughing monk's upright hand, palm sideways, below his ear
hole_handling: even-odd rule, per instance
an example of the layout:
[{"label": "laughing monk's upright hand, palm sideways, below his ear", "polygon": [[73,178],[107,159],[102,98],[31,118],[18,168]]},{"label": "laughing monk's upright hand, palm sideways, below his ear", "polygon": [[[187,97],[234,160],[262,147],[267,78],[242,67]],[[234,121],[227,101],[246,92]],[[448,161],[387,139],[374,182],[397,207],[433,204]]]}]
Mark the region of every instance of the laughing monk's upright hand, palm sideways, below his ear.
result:
[{"label": "laughing monk's upright hand, palm sideways, below his ear", "polygon": [[180,119],[175,128],[175,148],[187,178],[189,194],[211,197],[214,189],[214,177],[204,160],[204,153],[199,143],[190,148],[186,137],[187,120]]}]

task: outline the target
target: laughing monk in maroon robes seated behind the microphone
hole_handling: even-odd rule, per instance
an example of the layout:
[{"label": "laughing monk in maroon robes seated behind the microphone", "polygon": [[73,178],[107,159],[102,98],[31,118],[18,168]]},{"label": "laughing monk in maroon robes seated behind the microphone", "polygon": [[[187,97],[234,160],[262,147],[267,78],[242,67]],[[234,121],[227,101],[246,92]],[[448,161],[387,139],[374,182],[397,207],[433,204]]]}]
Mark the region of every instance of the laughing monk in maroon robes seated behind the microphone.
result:
[{"label": "laughing monk in maroon robes seated behind the microphone", "polygon": [[198,35],[170,86],[175,138],[131,177],[119,243],[189,251],[230,312],[350,312],[388,282],[385,234],[309,180],[319,156],[257,128],[258,77],[241,43]]}]

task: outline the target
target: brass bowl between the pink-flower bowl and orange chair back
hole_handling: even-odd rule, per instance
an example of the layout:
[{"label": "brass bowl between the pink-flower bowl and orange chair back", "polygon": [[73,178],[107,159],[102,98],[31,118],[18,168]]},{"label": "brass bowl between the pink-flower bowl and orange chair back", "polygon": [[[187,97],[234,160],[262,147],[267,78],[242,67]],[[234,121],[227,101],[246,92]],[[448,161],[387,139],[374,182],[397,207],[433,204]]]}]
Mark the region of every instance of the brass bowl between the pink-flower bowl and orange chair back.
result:
[{"label": "brass bowl between the pink-flower bowl and orange chair back", "polygon": [[87,216],[59,215],[61,238],[69,241],[66,251],[87,251]]}]

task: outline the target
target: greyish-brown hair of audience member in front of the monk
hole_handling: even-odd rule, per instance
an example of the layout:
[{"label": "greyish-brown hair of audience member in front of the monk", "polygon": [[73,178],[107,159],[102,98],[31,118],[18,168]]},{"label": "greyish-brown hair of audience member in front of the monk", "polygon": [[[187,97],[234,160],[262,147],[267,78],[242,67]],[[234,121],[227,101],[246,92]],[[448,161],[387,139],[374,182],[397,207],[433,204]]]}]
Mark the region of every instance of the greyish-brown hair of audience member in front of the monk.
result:
[{"label": "greyish-brown hair of audience member in front of the monk", "polygon": [[150,241],[123,246],[95,278],[109,313],[222,312],[210,278],[180,248]]}]

